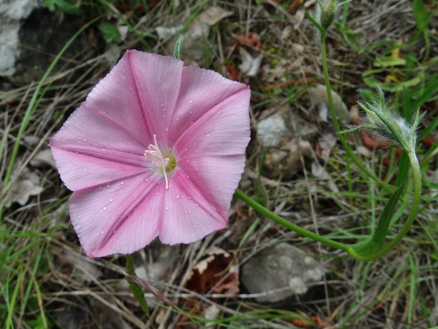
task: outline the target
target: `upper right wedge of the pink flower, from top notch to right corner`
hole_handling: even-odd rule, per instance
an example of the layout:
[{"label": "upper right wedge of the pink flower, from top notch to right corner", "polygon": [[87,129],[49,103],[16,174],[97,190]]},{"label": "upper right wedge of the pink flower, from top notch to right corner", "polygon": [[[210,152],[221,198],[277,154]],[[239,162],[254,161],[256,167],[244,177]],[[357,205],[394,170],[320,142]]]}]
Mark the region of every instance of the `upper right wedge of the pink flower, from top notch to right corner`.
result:
[{"label": "upper right wedge of the pink flower, from top notch to right corner", "polygon": [[[184,67],[177,107],[172,116],[169,141],[175,143],[188,127],[227,98],[242,91],[250,93],[240,82],[219,73],[197,67]],[[248,106],[243,109],[248,112]]]}]

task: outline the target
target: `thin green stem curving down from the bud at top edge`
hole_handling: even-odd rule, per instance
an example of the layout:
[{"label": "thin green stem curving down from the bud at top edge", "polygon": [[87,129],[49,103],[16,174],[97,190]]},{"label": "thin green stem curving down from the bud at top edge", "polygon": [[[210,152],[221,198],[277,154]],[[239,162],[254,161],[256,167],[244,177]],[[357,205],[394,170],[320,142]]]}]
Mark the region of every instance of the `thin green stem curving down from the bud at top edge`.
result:
[{"label": "thin green stem curving down from the bud at top edge", "polygon": [[[324,73],[324,81],[326,84],[326,91],[327,91],[327,98],[329,99],[329,107],[330,107],[330,113],[333,119],[333,124],[335,126],[335,130],[337,133],[341,131],[341,127],[339,126],[339,122],[337,119],[336,111],[333,104],[333,97],[331,97],[331,88],[330,88],[330,80],[329,80],[329,69],[327,66],[327,52],[326,52],[326,31],[324,29],[320,30],[321,32],[321,58],[322,58],[322,64],[323,64],[323,73]],[[359,159],[351,150],[350,146],[347,143],[346,137],[344,135],[339,135],[339,139],[344,146],[345,151],[350,156],[350,158],[353,160],[353,162],[359,167],[359,169],[366,174],[368,177],[370,177],[372,180],[377,182],[379,185],[382,185],[381,180],[376,177],[373,173],[371,173],[366,167],[362,164],[361,159]],[[389,186],[384,185],[386,189],[391,189]]]}]

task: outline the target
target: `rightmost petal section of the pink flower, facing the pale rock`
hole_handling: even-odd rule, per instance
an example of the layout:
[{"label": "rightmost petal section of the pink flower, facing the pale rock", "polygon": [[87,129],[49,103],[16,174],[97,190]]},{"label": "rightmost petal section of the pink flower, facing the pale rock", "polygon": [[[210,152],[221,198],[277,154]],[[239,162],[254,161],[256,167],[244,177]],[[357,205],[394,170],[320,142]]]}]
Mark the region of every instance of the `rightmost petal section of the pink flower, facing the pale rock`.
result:
[{"label": "rightmost petal section of the pink flower, facing the pale rock", "polygon": [[177,165],[223,216],[245,167],[249,99],[249,89],[227,98],[193,123],[174,146]]}]

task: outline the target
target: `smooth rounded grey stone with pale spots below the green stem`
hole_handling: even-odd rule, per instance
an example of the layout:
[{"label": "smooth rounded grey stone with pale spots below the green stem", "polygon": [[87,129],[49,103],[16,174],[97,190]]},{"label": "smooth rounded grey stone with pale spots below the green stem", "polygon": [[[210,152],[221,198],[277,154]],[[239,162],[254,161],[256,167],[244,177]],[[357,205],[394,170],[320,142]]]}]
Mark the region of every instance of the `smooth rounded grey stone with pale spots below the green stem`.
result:
[{"label": "smooth rounded grey stone with pale spots below the green stem", "polygon": [[259,303],[279,303],[304,294],[325,269],[300,249],[281,242],[258,252],[240,267],[240,282]]}]

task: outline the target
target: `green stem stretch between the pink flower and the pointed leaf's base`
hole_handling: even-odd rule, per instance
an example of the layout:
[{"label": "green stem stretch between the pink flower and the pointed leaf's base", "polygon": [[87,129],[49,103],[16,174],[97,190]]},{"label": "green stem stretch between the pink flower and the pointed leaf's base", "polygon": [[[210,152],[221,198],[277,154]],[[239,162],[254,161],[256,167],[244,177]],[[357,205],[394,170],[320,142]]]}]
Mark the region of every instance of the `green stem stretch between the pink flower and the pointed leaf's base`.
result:
[{"label": "green stem stretch between the pink flower and the pointed leaf's base", "polygon": [[248,206],[252,207],[257,212],[261,213],[262,215],[265,215],[266,217],[271,218],[272,220],[274,220],[278,224],[283,225],[284,227],[288,228],[289,230],[292,230],[293,232],[297,232],[298,234],[301,234],[301,235],[308,237],[312,240],[324,243],[330,247],[341,249],[341,250],[348,252],[348,253],[351,252],[351,247],[346,245],[345,243],[333,241],[325,236],[318,235],[316,233],[313,233],[313,232],[310,232],[306,229],[303,229],[295,224],[292,224],[291,222],[287,221],[283,217],[280,217],[279,215],[271,212],[269,209],[266,209],[265,207],[263,207],[262,205],[260,205],[259,203],[257,203],[253,199],[251,199],[249,196],[244,194],[239,189],[236,190],[234,195],[236,195],[240,200],[245,202]]}]

